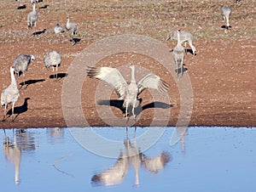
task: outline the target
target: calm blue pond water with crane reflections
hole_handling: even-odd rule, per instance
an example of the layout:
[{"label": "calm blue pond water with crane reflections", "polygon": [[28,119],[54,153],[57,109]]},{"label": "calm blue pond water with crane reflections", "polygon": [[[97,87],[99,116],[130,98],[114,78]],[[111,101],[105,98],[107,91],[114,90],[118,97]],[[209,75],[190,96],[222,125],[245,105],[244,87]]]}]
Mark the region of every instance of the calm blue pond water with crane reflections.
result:
[{"label": "calm blue pond water with crane reflections", "polygon": [[137,127],[135,138],[134,128],[84,128],[119,141],[116,149],[96,141],[111,157],[68,128],[0,130],[0,191],[256,190],[256,128],[189,127],[170,145],[175,128],[167,127],[147,149],[140,137],[153,128]]}]

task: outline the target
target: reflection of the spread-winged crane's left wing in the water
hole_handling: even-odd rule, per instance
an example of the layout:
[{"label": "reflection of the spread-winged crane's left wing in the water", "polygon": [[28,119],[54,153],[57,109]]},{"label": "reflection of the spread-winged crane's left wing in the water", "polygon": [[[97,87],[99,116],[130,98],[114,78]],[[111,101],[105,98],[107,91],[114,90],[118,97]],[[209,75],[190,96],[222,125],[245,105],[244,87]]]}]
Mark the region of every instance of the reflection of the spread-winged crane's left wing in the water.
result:
[{"label": "reflection of the spread-winged crane's left wing in the water", "polygon": [[118,161],[113,167],[108,168],[105,172],[94,175],[91,178],[93,184],[105,184],[107,186],[120,184],[125,178],[128,170],[128,159],[123,154],[119,155]]}]

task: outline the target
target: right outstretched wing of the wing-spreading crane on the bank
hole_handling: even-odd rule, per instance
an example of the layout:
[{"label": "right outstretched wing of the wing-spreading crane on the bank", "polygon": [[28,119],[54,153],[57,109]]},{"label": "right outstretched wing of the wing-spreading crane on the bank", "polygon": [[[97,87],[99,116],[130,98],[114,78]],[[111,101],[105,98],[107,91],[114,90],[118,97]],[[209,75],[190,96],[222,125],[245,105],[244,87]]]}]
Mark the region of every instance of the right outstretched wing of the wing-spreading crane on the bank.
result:
[{"label": "right outstretched wing of the wing-spreading crane on the bank", "polygon": [[169,85],[167,82],[164,82],[160,79],[160,76],[156,76],[153,73],[149,73],[147,76],[144,76],[138,83],[138,95],[143,92],[146,88],[157,89],[160,93],[165,93]]}]

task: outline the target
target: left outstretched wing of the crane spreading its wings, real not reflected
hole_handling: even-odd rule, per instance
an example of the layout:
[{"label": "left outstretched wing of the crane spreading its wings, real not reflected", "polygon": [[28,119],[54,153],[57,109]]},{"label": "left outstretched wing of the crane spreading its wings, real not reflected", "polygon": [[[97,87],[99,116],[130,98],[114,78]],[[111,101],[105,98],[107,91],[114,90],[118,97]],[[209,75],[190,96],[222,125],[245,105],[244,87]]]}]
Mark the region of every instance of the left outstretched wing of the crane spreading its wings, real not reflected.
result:
[{"label": "left outstretched wing of the crane spreading its wings, real not reflected", "polygon": [[124,98],[127,83],[117,69],[111,67],[86,66],[86,72],[90,78],[96,78],[104,82],[108,82],[108,84],[110,84],[118,94],[119,99]]}]

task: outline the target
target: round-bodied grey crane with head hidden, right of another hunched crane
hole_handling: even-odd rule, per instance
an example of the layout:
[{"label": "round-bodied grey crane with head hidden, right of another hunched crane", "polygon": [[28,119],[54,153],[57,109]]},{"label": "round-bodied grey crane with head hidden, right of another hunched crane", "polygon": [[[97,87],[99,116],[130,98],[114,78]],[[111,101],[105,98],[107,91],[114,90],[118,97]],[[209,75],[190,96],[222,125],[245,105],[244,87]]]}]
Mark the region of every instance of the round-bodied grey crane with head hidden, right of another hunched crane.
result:
[{"label": "round-bodied grey crane with head hidden, right of another hunched crane", "polygon": [[58,79],[58,67],[61,65],[61,54],[56,51],[49,51],[44,56],[44,66],[47,70],[49,70],[49,67],[52,66],[53,72],[55,71],[56,67],[56,80]]}]

